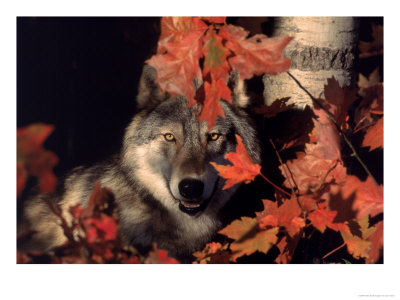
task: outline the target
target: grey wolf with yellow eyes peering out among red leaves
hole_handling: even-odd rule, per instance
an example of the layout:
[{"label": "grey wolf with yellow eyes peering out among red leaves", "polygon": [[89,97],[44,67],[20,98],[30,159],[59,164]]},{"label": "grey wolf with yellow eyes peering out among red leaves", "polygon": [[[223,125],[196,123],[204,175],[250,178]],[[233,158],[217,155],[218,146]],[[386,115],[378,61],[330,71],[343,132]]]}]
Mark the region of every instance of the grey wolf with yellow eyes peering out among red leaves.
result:
[{"label": "grey wolf with yellow eyes peering out among red leaves", "polygon": [[[70,218],[71,205],[87,204],[99,181],[115,196],[126,244],[140,249],[157,243],[170,256],[190,260],[220,228],[220,211],[237,188],[222,190],[225,180],[210,162],[228,163],[224,155],[235,151],[235,134],[242,137],[254,162],[260,161],[256,132],[243,110],[248,102],[244,84],[238,74],[231,83],[232,104],[220,100],[225,118],[218,117],[209,131],[193,108],[187,108],[185,97],[159,92],[155,70],[145,66],[137,96],[141,111],[126,128],[120,153],[71,172],[56,199],[64,217]],[[65,241],[58,218],[40,197],[24,208],[19,231],[27,230],[37,233],[22,250],[46,251]]]}]

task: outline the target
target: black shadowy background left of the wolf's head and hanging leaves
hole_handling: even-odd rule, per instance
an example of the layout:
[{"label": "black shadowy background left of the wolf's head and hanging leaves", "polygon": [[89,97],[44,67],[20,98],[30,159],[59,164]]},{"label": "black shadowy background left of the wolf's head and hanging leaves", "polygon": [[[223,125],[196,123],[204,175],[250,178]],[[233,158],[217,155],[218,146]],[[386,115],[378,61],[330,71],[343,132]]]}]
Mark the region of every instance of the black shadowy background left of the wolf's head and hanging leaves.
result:
[{"label": "black shadowy background left of the wolf's head and hanging leaves", "polygon": [[56,175],[117,152],[159,18],[17,18],[17,126],[53,124]]}]

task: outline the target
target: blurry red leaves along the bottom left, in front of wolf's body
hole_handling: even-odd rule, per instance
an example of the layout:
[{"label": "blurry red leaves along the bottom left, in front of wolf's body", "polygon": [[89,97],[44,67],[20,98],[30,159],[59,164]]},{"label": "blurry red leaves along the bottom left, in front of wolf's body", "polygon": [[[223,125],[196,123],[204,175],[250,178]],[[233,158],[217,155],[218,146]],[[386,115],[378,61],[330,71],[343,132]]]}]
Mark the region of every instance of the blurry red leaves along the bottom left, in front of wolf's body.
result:
[{"label": "blurry red leaves along the bottom left, in front of wolf's body", "polygon": [[[17,263],[96,263],[96,264],[174,264],[174,258],[168,257],[165,250],[153,245],[146,255],[140,254],[134,247],[124,245],[118,236],[119,222],[115,215],[116,204],[110,189],[96,184],[87,207],[76,204],[69,208],[65,217],[61,208],[50,200],[44,200],[61,223],[67,238],[64,244],[50,252],[17,252]],[[69,221],[71,219],[71,221]],[[22,233],[18,242],[30,238],[34,232]]]}]

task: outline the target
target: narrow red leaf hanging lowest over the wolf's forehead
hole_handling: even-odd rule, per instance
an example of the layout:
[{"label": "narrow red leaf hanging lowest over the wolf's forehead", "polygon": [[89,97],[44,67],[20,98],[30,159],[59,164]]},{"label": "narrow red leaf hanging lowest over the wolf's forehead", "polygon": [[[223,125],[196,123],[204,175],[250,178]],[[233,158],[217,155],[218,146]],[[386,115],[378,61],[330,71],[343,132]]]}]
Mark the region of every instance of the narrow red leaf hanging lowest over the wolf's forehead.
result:
[{"label": "narrow red leaf hanging lowest over the wolf's forehead", "polygon": [[217,117],[225,117],[222,109],[221,99],[231,102],[231,90],[226,86],[225,81],[220,78],[217,81],[211,80],[211,84],[204,82],[205,100],[199,115],[199,121],[207,121],[208,128],[211,130],[217,121]]}]

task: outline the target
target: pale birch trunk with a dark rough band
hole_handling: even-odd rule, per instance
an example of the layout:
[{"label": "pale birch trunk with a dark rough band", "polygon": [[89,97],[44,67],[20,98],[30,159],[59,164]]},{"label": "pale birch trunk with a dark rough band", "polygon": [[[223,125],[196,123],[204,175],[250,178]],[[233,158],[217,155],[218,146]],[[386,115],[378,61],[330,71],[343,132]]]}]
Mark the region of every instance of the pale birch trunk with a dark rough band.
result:
[{"label": "pale birch trunk with a dark rough band", "polygon": [[[274,19],[273,36],[293,40],[285,48],[292,59],[289,72],[316,98],[323,97],[327,78],[334,76],[341,86],[356,80],[354,70],[359,19],[353,17],[280,17]],[[283,97],[298,107],[312,106],[310,97],[287,73],[264,75],[267,105]]]}]

